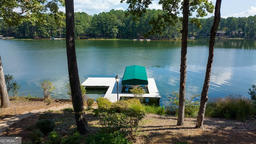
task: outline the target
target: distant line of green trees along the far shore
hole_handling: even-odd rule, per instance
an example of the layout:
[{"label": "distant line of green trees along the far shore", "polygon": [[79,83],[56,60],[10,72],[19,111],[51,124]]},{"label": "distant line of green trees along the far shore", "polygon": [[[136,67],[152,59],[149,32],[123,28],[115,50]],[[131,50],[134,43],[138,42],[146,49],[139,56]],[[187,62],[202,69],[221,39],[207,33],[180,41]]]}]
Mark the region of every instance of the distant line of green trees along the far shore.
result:
[{"label": "distant line of green trees along the far shore", "polygon": [[[85,12],[75,13],[76,38],[144,38],[144,35],[152,29],[149,24],[153,17],[164,13],[162,10],[147,10],[141,18],[126,15],[123,10],[110,10],[90,16]],[[201,27],[189,22],[188,37],[208,37],[214,17],[201,18]],[[189,19],[191,21],[191,18]],[[175,26],[166,26],[160,34],[148,35],[152,39],[176,39],[181,37],[182,22]],[[19,26],[9,26],[0,19],[0,35],[14,38],[65,38],[65,26],[58,27],[54,18],[46,14],[46,24],[33,25],[24,22]],[[256,36],[256,15],[249,17],[221,18],[217,36],[221,37],[246,37]]]}]

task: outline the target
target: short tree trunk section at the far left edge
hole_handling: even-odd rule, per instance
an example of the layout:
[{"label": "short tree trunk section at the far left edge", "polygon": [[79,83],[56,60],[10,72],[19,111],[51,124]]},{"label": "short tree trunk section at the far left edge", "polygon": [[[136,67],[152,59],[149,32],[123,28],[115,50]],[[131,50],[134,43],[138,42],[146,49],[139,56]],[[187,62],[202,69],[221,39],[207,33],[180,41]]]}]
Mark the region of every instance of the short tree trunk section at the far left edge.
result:
[{"label": "short tree trunk section at the far left edge", "polygon": [[1,56],[0,56],[0,96],[1,96],[0,108],[11,107],[11,103],[9,100],[6,83],[5,83],[5,79],[4,79],[4,69],[3,69],[3,65],[2,65]]}]

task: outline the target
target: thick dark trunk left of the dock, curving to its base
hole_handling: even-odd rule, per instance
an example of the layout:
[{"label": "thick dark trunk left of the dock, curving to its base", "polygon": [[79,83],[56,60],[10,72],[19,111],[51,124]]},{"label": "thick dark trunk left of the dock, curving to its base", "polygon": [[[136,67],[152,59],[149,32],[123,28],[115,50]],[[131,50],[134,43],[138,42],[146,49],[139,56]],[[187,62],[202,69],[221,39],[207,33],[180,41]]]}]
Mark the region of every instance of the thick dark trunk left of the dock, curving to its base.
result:
[{"label": "thick dark trunk left of the dock, curving to its base", "polygon": [[68,57],[68,74],[70,89],[72,94],[72,102],[76,117],[76,126],[80,134],[89,132],[86,115],[84,112],[84,102],[78,76],[78,68],[76,62],[75,36],[74,36],[74,1],[65,0],[66,5],[66,47]]}]

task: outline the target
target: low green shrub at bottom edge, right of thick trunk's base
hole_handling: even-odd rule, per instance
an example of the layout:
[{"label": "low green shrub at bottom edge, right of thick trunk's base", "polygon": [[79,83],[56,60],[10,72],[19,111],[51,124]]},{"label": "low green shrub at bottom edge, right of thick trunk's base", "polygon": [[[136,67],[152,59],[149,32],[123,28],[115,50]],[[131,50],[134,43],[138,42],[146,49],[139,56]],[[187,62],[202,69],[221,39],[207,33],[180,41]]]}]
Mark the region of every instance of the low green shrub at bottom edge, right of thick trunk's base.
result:
[{"label": "low green shrub at bottom edge, right of thick trunk's base", "polygon": [[110,134],[97,132],[86,138],[86,144],[132,144],[120,132]]}]

